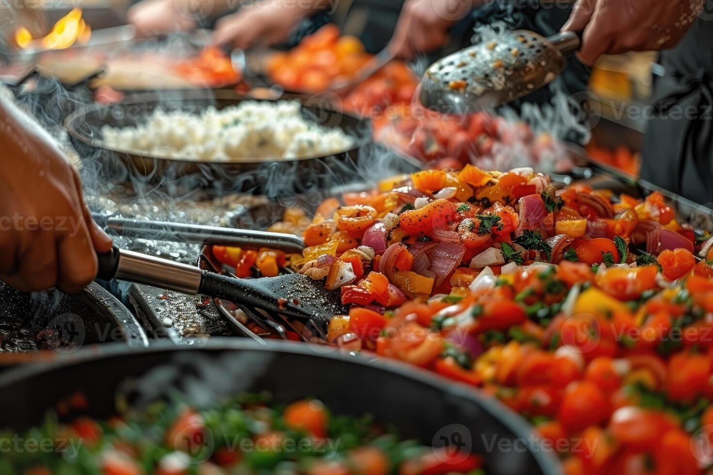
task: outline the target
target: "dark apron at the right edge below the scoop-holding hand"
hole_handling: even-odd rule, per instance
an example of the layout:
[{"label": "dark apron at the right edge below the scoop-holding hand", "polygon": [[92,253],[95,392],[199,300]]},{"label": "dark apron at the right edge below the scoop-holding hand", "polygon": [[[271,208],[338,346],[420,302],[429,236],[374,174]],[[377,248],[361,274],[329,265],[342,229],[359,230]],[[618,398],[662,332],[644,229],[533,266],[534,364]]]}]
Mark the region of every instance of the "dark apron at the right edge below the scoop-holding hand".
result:
[{"label": "dark apron at the right edge below the scoop-holding hand", "polygon": [[697,19],[661,54],[641,177],[699,204],[713,202],[713,26]]}]

